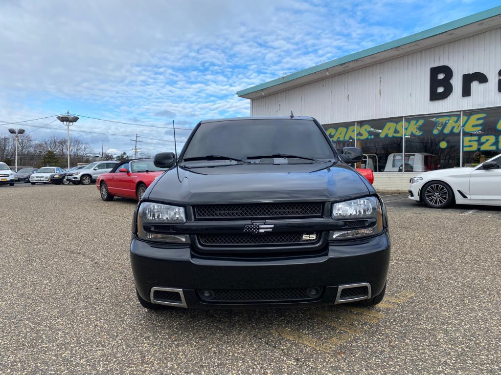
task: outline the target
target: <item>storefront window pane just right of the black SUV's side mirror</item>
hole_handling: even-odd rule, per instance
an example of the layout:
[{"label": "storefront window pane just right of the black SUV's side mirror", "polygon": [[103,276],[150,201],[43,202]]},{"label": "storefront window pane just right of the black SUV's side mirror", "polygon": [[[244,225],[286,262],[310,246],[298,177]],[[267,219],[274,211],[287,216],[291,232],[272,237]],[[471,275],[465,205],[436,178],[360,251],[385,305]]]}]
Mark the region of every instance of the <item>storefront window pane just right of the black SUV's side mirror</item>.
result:
[{"label": "storefront window pane just right of the black SUV's side mirror", "polygon": [[357,147],[362,149],[362,167],[375,172],[402,171],[402,117],[357,123]]}]

